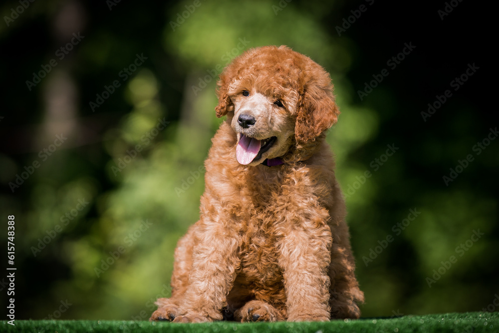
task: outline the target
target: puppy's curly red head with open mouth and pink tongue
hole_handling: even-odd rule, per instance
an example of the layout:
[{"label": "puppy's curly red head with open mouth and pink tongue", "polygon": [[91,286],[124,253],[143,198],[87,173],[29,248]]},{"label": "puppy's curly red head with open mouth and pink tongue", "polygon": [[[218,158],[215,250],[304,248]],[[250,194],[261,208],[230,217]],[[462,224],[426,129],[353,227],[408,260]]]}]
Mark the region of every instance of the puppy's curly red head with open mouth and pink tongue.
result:
[{"label": "puppy's curly red head with open mouth and pink tongue", "polygon": [[306,155],[299,150],[339,114],[329,74],[286,46],[246,51],[224,69],[218,86],[217,116],[229,116],[237,159],[245,165]]}]

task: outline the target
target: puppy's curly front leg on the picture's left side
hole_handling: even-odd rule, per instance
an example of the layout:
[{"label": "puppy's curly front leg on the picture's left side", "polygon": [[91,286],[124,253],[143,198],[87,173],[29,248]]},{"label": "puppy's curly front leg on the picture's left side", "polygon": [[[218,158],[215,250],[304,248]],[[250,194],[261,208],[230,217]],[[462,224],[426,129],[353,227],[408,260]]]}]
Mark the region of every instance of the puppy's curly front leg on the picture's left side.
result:
[{"label": "puppy's curly front leg on the picture's left side", "polygon": [[[239,265],[239,241],[216,223],[199,222],[194,233],[192,269],[177,323],[222,320]],[[236,234],[237,235],[237,234]]]}]

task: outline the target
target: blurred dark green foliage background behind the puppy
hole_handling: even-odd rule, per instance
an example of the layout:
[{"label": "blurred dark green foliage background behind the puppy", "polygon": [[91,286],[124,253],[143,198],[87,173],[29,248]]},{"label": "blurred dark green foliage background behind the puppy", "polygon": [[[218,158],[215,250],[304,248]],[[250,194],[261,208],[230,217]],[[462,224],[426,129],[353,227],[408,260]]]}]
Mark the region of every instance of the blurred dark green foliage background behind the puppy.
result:
[{"label": "blurred dark green foliage background behind the puppy", "polygon": [[[197,220],[203,160],[221,121],[216,77],[229,59],[267,44],[286,44],[331,73],[342,113],[328,141],[347,197],[363,316],[497,310],[490,8],[467,0],[54,0],[15,16],[19,6],[0,6],[0,243],[6,253],[7,216],[15,215],[15,261],[4,266],[17,269],[16,319],[149,318],[152,302],[170,293],[175,244]],[[446,6],[453,10],[442,16]],[[350,26],[339,34],[344,19]],[[415,47],[393,68],[405,43]],[[51,59],[57,65],[47,67]],[[469,66],[478,69],[455,90]],[[29,90],[43,68],[50,71]],[[383,69],[388,75],[372,82]],[[361,100],[366,84],[372,91]],[[421,112],[446,90],[425,121]]]}]

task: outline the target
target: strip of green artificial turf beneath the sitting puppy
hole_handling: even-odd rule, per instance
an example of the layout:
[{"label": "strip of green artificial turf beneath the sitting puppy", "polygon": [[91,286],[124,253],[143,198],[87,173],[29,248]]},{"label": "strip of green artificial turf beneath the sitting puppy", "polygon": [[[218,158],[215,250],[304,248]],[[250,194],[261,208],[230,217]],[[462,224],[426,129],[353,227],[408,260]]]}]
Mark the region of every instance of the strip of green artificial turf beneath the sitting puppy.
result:
[{"label": "strip of green artificial turf beneath the sitting puppy", "polygon": [[182,333],[260,333],[260,332],[499,332],[499,313],[474,312],[397,318],[335,320],[328,323],[247,323],[217,322],[172,324],[133,321],[3,321],[1,332],[182,332]]}]

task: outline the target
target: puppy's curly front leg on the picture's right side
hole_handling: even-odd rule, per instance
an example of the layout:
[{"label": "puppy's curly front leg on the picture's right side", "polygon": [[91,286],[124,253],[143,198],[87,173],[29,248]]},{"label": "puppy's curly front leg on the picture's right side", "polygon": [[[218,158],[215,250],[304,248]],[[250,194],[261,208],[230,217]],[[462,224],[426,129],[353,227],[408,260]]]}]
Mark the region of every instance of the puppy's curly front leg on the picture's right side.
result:
[{"label": "puppy's curly front leg on the picture's right side", "polygon": [[283,269],[288,321],[329,321],[330,246],[327,225],[293,228],[281,240],[279,265]]}]

